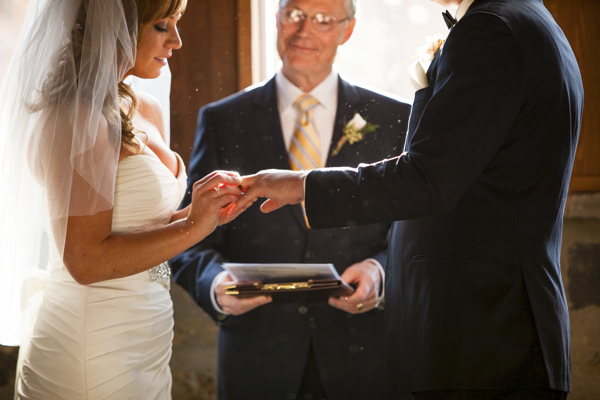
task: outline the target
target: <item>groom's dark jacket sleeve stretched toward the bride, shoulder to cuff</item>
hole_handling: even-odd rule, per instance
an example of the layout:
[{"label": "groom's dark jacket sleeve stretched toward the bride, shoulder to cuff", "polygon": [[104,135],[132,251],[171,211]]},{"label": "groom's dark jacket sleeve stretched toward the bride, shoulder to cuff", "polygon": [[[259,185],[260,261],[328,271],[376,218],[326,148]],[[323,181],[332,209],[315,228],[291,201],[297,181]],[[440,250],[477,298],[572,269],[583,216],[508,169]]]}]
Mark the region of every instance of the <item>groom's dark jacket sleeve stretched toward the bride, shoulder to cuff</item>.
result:
[{"label": "groom's dark jacket sleeve stretched toward the bride, shoulder to cuff", "polygon": [[[402,155],[306,180],[311,226],[421,218],[451,210],[507,140],[527,91],[522,50],[500,18],[474,13],[444,44],[432,93]],[[412,123],[411,123],[412,125]]]}]

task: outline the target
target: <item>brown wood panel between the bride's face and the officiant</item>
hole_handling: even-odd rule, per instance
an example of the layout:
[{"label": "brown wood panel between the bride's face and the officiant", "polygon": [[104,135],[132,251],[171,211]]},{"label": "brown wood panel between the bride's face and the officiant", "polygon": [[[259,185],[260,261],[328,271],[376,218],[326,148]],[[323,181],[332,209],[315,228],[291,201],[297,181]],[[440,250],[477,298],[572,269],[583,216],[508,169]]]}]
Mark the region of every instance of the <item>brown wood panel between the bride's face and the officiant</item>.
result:
[{"label": "brown wood panel between the bride's face and the officiant", "polygon": [[171,147],[186,163],[200,107],[238,90],[237,1],[188,1],[179,22],[183,47],[169,61]]}]

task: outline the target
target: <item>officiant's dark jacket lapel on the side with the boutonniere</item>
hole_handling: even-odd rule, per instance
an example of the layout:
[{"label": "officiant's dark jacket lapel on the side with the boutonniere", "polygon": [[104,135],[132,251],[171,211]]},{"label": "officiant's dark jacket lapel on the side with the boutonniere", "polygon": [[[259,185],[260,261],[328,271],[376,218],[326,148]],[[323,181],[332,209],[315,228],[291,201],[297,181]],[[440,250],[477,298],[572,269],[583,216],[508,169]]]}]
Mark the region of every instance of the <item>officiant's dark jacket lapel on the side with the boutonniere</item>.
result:
[{"label": "officiant's dark jacket lapel on the side with the boutonniere", "polygon": [[342,78],[338,79],[338,105],[335,112],[335,124],[333,127],[333,136],[331,137],[331,146],[327,156],[327,167],[339,166],[339,163],[336,165],[336,160],[344,158],[343,154],[346,151],[350,151],[350,146],[343,146],[338,155],[331,157],[331,152],[335,149],[344,134],[344,124],[348,123],[348,121],[354,117],[354,113],[360,111],[361,107],[360,95],[356,88]]}]

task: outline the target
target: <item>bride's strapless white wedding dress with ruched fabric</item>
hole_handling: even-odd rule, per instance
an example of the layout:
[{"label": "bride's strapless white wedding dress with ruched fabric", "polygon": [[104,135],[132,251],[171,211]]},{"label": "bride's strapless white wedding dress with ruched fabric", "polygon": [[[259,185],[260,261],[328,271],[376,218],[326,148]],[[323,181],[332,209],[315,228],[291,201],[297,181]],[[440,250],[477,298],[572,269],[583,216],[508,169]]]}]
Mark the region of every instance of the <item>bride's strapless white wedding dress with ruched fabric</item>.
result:
[{"label": "bride's strapless white wedding dress with ruched fabric", "polygon": [[[156,156],[124,158],[117,169],[113,232],[167,224],[186,189]],[[129,257],[135,259],[136,254]],[[166,263],[88,286],[51,255],[50,276],[21,347],[18,399],[170,399],[173,305]]]}]

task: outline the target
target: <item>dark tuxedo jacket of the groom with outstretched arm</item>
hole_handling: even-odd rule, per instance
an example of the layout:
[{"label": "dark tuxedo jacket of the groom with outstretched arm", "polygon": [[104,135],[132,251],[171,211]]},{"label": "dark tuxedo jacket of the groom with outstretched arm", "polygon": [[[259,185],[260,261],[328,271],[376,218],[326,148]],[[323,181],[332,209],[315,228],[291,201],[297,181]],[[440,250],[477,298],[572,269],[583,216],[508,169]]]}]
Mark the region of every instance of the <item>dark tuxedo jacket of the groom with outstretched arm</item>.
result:
[{"label": "dark tuxedo jacket of the groom with outstretched arm", "polygon": [[398,221],[386,334],[400,391],[568,391],[559,258],[583,108],[571,47],[541,0],[476,0],[428,80],[404,154],[309,174],[309,222]]}]

